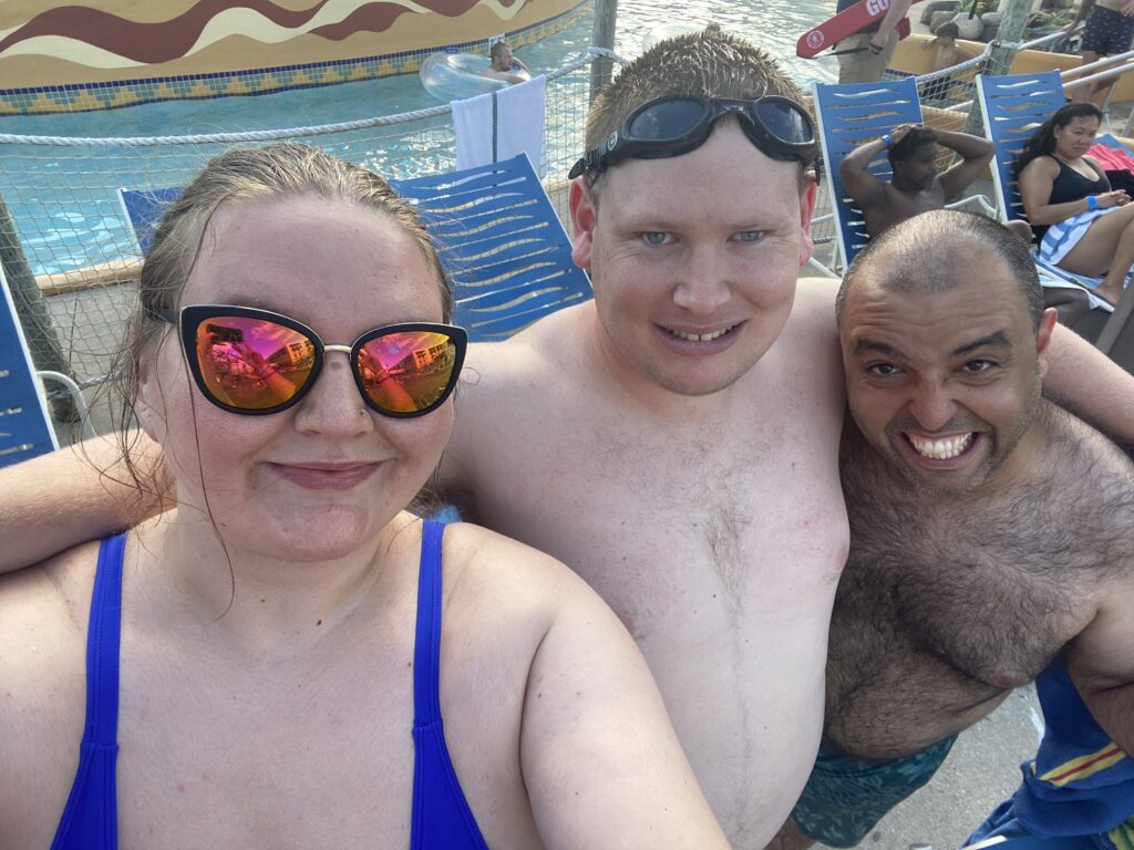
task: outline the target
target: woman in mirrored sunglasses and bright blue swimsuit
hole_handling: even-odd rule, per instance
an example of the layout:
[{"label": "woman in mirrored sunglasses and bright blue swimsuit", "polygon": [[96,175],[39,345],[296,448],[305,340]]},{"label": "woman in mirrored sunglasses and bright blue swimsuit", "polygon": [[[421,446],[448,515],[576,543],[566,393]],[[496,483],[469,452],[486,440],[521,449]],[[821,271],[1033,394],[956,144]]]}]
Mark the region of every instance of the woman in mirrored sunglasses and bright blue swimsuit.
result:
[{"label": "woman in mirrored sunglasses and bright blue swimsuit", "polygon": [[230,152],[139,295],[178,501],[0,579],[0,848],[726,847],[598,596],[405,510],[465,334],[381,178]]}]

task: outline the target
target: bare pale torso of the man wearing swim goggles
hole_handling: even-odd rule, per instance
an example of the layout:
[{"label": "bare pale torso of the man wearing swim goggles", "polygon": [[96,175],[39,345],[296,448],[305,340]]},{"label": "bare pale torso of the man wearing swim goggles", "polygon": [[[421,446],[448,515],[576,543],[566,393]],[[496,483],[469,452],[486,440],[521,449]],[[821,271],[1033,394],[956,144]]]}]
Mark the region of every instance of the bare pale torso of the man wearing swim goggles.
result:
[{"label": "bare pale torso of the man wearing swim goggles", "polygon": [[611,391],[579,349],[586,309],[476,352],[447,461],[481,521],[624,619],[726,832],[762,848],[818,746],[846,554],[833,323],[807,338],[789,322],[729,403],[683,418],[691,399],[658,411]]}]

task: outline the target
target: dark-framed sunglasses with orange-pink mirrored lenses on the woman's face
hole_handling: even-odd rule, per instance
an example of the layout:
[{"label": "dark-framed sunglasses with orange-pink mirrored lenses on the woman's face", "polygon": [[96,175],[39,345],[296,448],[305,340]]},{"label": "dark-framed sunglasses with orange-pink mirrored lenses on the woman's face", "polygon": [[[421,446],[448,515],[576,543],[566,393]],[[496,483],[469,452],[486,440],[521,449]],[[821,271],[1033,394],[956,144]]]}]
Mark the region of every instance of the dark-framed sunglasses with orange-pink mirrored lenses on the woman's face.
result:
[{"label": "dark-framed sunglasses with orange-pink mirrored lenses on the woman's face", "polygon": [[[301,322],[252,307],[185,307],[180,328],[197,386],[218,407],[240,414],[272,414],[297,403],[319,375],[328,348]],[[330,348],[348,354],[370,408],[411,417],[433,410],[452,392],[466,342],[460,328],[407,323],[376,328],[349,347]]]}]

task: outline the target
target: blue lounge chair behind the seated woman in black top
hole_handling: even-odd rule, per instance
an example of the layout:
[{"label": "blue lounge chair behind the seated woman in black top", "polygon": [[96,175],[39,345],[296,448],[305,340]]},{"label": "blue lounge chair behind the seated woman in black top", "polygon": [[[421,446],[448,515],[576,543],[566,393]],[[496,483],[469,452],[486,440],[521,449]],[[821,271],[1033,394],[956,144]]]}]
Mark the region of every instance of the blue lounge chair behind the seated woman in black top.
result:
[{"label": "blue lounge chair behind the seated woman in black top", "polygon": [[[1027,139],[1035,128],[1043,124],[1060,107],[1067,103],[1063,93],[1059,71],[1038,74],[1015,74],[1004,77],[976,76],[976,93],[981,113],[984,116],[985,135],[996,146],[992,160],[992,182],[1005,220],[1027,221],[1024,202],[1019,197],[1015,164]],[[1052,263],[1041,260],[1032,252],[1036,266],[1041,270],[1044,286],[1050,279],[1064,281],[1065,286],[1078,286],[1090,294],[1102,282],[1100,278],[1073,274]],[[1106,301],[1090,294],[1090,306],[1110,312]]]}]

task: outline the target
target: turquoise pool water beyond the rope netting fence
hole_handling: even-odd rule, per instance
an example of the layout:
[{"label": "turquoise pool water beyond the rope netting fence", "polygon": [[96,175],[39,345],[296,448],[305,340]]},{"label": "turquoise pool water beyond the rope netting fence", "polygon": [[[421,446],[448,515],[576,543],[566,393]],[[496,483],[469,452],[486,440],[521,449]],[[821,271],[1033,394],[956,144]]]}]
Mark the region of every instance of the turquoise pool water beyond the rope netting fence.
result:
[{"label": "turquoise pool water beyond the rope netting fence", "polygon": [[[830,80],[837,75],[833,59],[802,60],[795,57],[795,42],[807,28],[829,17],[833,0],[689,0],[683,5],[682,24],[719,23],[725,29],[747,37],[780,60],[801,84],[812,79]],[[626,58],[642,52],[651,36],[666,32],[672,6],[662,0],[620,0],[615,49]],[[578,57],[591,43],[591,15],[582,16],[555,36],[517,51],[533,71],[551,70]],[[584,75],[576,75],[585,85]],[[585,97],[578,97],[578,114],[557,117],[582,126]],[[373,116],[428,109],[438,105],[421,86],[416,74],[375,80],[345,83],[316,88],[290,90],[249,97],[222,97],[196,101],[163,101],[107,112],[79,112],[0,118],[0,134],[26,134],[68,137],[133,137],[185,134],[242,133],[353,121]],[[448,119],[445,119],[446,121]],[[549,127],[549,134],[552,128]],[[431,144],[451,144],[448,134],[414,138],[383,138],[374,134],[341,138],[338,153],[387,172],[429,168]],[[352,144],[354,148],[352,150]],[[375,146],[376,145],[376,146]],[[365,152],[361,148],[365,147]],[[181,185],[200,167],[203,158],[221,147],[193,146],[183,156],[163,148],[160,159],[146,161],[145,152],[132,148],[87,150],[83,160],[54,161],[44,148],[15,148],[0,145],[0,195],[7,201],[17,222],[29,264],[35,273],[53,273],[103,263],[137,254],[117,202],[105,189],[84,197],[83,175],[121,175],[118,184]],[[567,152],[574,158],[582,152]],[[413,161],[413,162],[411,162]],[[551,162],[550,173],[566,170],[569,163]],[[154,171],[160,170],[160,175]],[[145,179],[139,178],[144,175]],[[98,195],[98,197],[93,197]],[[26,223],[35,221],[36,226]],[[79,244],[76,244],[76,239]]]}]

